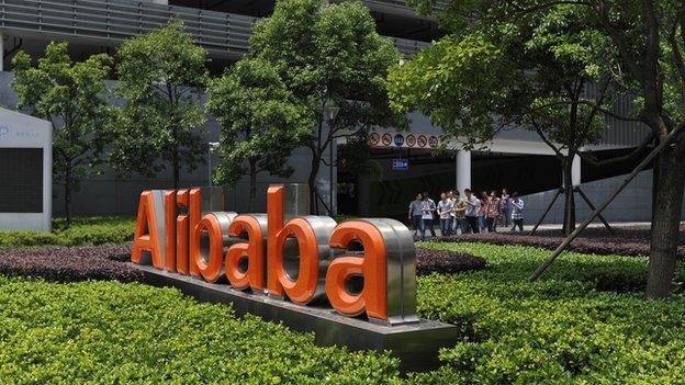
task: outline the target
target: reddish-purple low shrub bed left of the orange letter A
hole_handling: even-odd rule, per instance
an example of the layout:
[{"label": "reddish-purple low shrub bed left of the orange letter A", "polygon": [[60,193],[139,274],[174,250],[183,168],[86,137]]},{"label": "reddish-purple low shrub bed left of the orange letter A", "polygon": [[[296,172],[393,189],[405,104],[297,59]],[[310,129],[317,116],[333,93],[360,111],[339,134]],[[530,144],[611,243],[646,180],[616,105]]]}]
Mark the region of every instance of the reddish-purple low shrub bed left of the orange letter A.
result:
[{"label": "reddish-purple low shrub bed left of the orange letter A", "polygon": [[4,249],[0,250],[0,274],[56,282],[139,281],[143,276],[138,270],[108,258],[128,252],[127,246]]}]

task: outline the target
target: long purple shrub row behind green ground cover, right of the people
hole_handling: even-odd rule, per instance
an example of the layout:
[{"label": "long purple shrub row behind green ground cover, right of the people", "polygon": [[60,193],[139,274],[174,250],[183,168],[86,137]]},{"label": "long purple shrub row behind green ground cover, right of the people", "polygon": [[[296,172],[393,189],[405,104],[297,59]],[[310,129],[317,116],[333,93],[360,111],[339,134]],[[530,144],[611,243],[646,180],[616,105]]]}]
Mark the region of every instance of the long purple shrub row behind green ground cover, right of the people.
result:
[{"label": "long purple shrub row behind green ground cover, right of the people", "polygon": [[[453,242],[484,242],[492,245],[521,245],[534,246],[548,250],[554,250],[564,237],[561,236],[530,236],[513,233],[482,233],[465,234],[452,237],[441,237],[437,241]],[[620,238],[620,237],[598,237],[598,238],[577,238],[573,240],[570,249],[582,253],[602,254],[602,256],[649,256],[649,240],[641,238]],[[685,245],[678,248],[681,258],[685,258]]]}]

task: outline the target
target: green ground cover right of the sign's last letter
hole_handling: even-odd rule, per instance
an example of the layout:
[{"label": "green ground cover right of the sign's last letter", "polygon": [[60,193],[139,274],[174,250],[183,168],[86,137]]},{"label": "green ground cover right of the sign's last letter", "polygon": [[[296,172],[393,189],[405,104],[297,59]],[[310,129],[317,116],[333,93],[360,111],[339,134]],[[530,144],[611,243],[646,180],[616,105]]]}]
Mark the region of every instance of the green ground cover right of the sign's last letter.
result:
[{"label": "green ground cover right of the sign's last letter", "polygon": [[530,283],[549,251],[423,246],[485,257],[491,269],[419,278],[419,314],[458,325],[462,341],[416,384],[685,383],[685,296],[644,299],[647,258],[564,253]]}]

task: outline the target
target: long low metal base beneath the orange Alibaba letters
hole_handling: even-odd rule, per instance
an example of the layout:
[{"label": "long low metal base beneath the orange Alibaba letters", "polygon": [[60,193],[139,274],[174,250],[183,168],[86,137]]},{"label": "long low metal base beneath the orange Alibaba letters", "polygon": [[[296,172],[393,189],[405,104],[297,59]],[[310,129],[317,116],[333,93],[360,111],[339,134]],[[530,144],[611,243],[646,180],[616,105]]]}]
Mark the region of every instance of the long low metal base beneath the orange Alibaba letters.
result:
[{"label": "long low metal base beneath the orange Alibaba letters", "polygon": [[361,318],[349,318],[330,308],[300,306],[266,295],[244,293],[227,284],[157,270],[151,265],[128,263],[144,273],[146,283],[172,286],[198,301],[231,303],[236,315],[252,314],[266,320],[282,322],[292,330],[314,332],[319,346],[345,346],[350,350],[391,351],[401,360],[400,371],[423,372],[439,366],[438,350],[459,340],[456,326],[431,320],[385,326]]}]

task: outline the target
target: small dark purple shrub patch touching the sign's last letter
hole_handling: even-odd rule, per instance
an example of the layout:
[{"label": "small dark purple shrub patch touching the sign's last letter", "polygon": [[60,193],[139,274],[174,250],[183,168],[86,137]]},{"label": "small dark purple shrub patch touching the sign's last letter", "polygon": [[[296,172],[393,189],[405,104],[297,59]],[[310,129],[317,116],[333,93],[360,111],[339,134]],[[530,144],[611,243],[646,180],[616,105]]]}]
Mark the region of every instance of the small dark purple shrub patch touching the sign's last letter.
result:
[{"label": "small dark purple shrub patch touching the sign's last letter", "polygon": [[416,274],[427,275],[430,273],[453,274],[469,270],[485,269],[487,262],[484,258],[475,257],[467,252],[438,250],[433,248],[416,248]]}]

